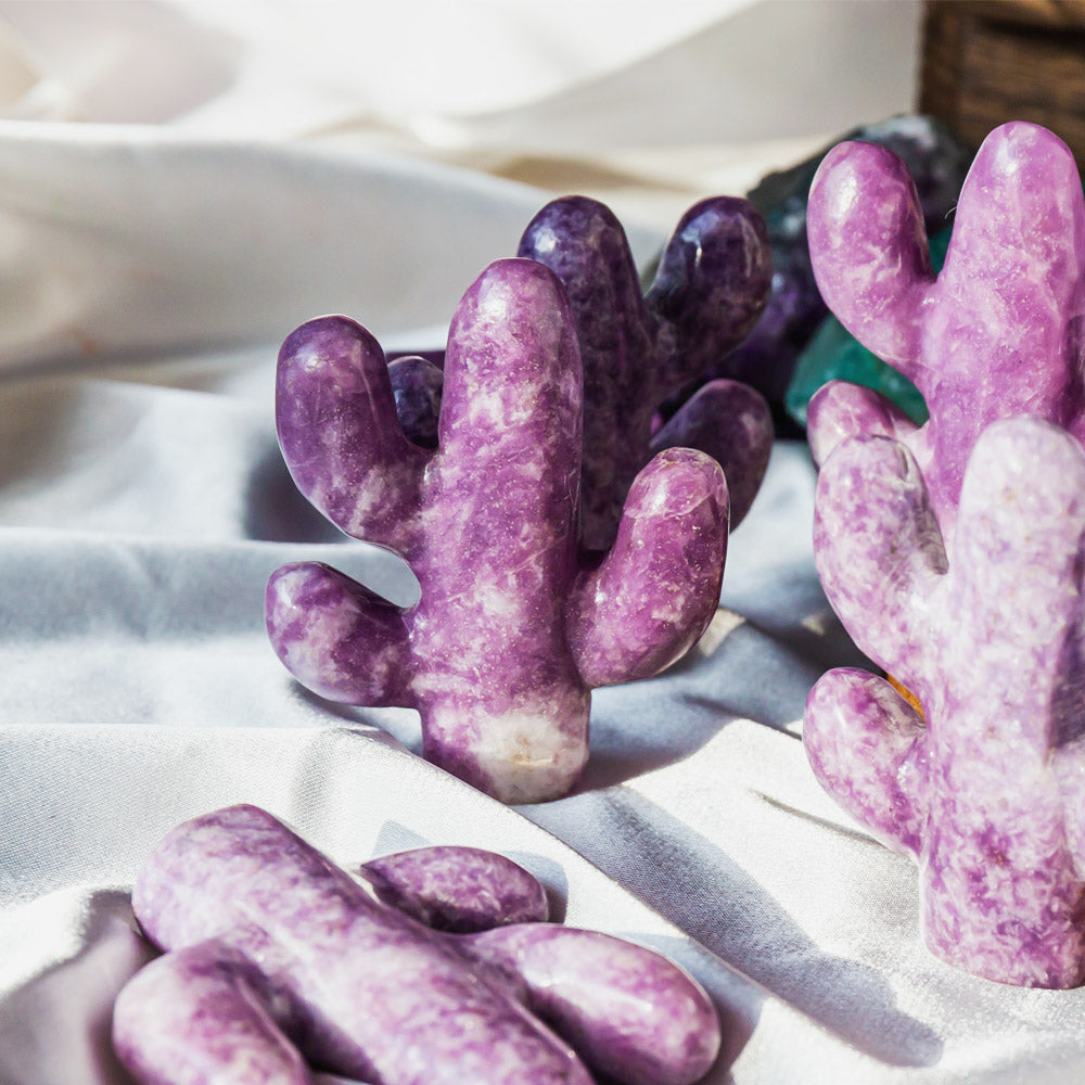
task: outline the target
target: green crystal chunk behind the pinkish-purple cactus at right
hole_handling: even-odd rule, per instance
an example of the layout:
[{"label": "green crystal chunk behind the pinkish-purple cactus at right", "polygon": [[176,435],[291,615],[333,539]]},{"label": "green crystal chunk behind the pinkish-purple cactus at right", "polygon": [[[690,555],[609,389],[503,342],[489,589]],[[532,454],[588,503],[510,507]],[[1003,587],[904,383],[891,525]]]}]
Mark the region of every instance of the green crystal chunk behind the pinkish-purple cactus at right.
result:
[{"label": "green crystal chunk behind the pinkish-purple cactus at right", "polygon": [[[952,233],[953,230],[946,228],[930,240],[931,264],[935,271],[942,270]],[[800,425],[806,424],[806,405],[810,396],[829,381],[850,381],[873,388],[892,399],[917,424],[927,421],[927,404],[919,388],[871,354],[831,314],[803,348],[784,395],[784,408]]]}]

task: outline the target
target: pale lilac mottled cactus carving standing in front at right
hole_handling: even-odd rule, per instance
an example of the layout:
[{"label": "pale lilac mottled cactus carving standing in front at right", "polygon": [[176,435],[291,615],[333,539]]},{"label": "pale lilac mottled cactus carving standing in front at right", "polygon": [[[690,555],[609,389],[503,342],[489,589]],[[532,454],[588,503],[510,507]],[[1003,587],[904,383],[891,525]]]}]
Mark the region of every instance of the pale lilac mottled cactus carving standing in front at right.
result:
[{"label": "pale lilac mottled cactus carving standing in front at right", "polygon": [[818,480],[815,557],[883,679],[827,674],[814,771],[920,868],[927,944],[1027,986],[1085,982],[1085,452],[1036,418],[994,423],[947,550],[907,448],[845,441]]}]

